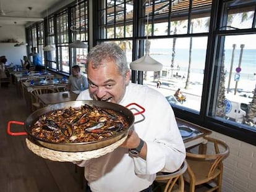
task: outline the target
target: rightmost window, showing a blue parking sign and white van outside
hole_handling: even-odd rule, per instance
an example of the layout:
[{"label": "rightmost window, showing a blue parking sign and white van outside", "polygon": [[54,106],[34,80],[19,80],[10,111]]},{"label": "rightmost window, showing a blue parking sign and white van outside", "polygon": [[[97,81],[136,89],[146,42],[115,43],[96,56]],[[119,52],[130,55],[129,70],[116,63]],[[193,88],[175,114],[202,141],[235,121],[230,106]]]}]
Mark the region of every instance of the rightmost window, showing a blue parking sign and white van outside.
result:
[{"label": "rightmost window, showing a blue parking sign and white van outside", "polygon": [[256,132],[255,2],[226,1],[223,7],[208,115]]}]

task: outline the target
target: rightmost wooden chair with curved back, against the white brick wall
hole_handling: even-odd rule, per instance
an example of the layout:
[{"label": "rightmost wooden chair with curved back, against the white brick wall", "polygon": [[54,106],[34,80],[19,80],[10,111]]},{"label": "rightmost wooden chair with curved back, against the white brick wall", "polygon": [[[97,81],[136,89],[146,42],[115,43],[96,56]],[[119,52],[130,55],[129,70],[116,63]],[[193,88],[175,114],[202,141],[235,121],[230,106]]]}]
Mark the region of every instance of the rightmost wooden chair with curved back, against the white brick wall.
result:
[{"label": "rightmost wooden chair with curved back, against the white brick wall", "polygon": [[223,159],[228,157],[229,147],[223,141],[214,138],[205,137],[205,140],[207,143],[200,144],[197,147],[198,151],[193,148],[187,152],[187,172],[183,176],[190,184],[190,192],[194,192],[196,186],[204,183],[208,183],[208,191],[221,191]]}]

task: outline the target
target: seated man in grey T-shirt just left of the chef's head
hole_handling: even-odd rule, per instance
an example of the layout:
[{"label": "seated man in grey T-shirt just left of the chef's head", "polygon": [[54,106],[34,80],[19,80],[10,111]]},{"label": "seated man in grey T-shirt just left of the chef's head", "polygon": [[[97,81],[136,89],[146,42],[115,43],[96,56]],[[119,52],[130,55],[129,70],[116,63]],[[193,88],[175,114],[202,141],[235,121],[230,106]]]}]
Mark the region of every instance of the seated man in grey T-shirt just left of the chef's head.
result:
[{"label": "seated man in grey T-shirt just left of the chef's head", "polygon": [[79,65],[74,65],[69,76],[69,84],[66,87],[67,91],[83,91],[88,89],[88,80],[85,75],[80,73]]}]

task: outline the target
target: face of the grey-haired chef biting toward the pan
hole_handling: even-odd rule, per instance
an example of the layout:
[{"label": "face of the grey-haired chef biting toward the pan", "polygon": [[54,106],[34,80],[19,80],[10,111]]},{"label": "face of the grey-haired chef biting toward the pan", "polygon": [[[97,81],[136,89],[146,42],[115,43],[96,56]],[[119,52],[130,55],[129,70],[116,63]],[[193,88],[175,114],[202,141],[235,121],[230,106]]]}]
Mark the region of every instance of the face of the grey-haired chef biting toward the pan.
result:
[{"label": "face of the grey-haired chef biting toward the pan", "polygon": [[92,68],[92,63],[87,66],[89,91],[93,99],[119,103],[126,92],[126,85],[130,80],[130,73],[122,76],[111,60],[105,60],[97,69]]}]

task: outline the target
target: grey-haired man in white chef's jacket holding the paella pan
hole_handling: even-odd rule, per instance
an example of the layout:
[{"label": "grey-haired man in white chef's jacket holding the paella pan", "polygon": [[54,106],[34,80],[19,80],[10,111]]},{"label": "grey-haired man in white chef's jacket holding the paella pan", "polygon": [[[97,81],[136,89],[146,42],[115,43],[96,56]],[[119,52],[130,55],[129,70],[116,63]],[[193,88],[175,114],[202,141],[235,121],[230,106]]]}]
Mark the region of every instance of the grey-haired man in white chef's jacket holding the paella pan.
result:
[{"label": "grey-haired man in white chef's jacket holding the paella pan", "polygon": [[119,148],[77,162],[85,167],[89,191],[151,191],[156,173],[176,171],[186,156],[173,109],[158,91],[130,83],[126,55],[114,43],[100,44],[88,53],[87,75],[89,88],[77,100],[94,99],[122,106],[136,102],[145,108],[144,119],[135,116]]}]

